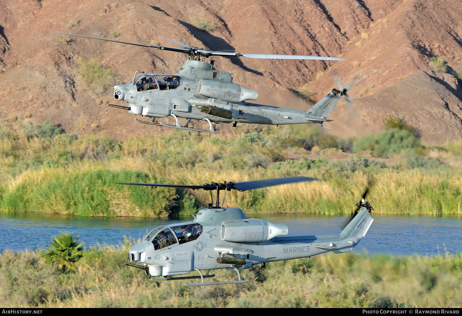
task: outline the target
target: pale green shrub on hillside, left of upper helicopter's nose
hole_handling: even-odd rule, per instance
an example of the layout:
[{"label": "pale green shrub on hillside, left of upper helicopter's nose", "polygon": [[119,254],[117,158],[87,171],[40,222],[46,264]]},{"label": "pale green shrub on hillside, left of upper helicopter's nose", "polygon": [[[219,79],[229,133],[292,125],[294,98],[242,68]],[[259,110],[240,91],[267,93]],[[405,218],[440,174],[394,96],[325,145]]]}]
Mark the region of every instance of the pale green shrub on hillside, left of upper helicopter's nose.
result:
[{"label": "pale green shrub on hillside, left of upper helicopter's nose", "polygon": [[79,58],[79,74],[82,82],[87,87],[94,89],[98,93],[108,91],[115,83],[116,77],[111,72],[111,68],[104,67],[96,59],[85,60]]}]

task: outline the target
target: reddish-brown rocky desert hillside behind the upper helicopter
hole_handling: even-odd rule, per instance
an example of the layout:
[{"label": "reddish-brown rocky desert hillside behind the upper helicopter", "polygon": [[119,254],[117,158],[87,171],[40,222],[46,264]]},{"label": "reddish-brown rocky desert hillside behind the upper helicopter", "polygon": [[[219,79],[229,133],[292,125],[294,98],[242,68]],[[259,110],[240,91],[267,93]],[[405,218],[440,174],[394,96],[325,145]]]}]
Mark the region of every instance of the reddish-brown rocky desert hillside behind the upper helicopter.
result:
[{"label": "reddish-brown rocky desert hillside behind the upper helicopter", "polygon": [[[340,103],[336,121],[326,124],[336,134],[375,132],[388,115],[404,118],[427,143],[462,134],[462,90],[453,75],[462,78],[460,0],[0,0],[3,122],[49,118],[67,131],[102,129],[126,138],[162,130],[108,108],[111,86],[130,81],[136,70],[175,73],[186,56],[52,30],[153,45],[173,46],[168,38],[244,53],[340,56],[346,61],[214,59],[234,82],[258,90],[257,102],[297,109],[327,94],[335,73],[344,84],[360,78],[349,93],[356,113]],[[89,69],[103,79],[89,85]]]}]

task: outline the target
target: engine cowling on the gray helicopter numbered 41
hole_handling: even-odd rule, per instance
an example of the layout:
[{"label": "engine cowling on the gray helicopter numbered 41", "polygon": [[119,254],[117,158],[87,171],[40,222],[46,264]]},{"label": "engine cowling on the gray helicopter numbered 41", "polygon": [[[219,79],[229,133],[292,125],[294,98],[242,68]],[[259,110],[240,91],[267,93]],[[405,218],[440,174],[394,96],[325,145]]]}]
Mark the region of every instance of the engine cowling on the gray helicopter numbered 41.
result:
[{"label": "engine cowling on the gray helicopter numbered 41", "polygon": [[274,237],[287,236],[289,229],[263,219],[237,219],[223,222],[221,240],[230,243],[259,243]]}]

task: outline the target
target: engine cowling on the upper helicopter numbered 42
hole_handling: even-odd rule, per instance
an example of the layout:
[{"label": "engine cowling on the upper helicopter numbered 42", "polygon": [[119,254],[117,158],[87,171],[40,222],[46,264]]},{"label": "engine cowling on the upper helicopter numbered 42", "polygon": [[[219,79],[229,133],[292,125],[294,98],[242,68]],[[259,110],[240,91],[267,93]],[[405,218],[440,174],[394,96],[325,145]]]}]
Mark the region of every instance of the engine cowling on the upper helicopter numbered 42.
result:
[{"label": "engine cowling on the upper helicopter numbered 42", "polygon": [[197,93],[204,97],[213,97],[229,102],[241,102],[244,100],[256,100],[258,92],[244,88],[232,82],[218,80],[200,80]]}]

